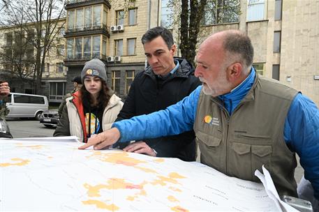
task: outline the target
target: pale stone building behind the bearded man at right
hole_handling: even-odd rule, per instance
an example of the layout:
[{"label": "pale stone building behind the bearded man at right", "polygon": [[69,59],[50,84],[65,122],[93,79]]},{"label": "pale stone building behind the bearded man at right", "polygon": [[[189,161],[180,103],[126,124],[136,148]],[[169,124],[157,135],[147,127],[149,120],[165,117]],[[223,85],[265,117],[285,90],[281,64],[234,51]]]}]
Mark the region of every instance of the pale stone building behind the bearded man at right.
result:
[{"label": "pale stone building behind the bearded man at right", "polygon": [[302,91],[319,106],[319,0],[238,3],[237,20],[208,20],[202,25],[199,40],[225,29],[246,31],[253,42],[258,73]]}]

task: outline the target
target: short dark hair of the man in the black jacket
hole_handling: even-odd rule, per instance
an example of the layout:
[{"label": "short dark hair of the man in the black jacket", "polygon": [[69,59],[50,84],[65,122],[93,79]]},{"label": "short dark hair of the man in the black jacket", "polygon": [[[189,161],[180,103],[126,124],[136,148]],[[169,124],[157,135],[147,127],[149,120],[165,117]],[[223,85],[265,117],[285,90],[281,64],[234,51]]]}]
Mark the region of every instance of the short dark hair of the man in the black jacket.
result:
[{"label": "short dark hair of the man in the black jacket", "polygon": [[144,33],[144,35],[142,36],[142,44],[144,45],[145,43],[150,42],[158,36],[161,36],[163,38],[166,45],[168,45],[168,49],[170,49],[174,44],[172,33],[164,27],[154,27],[147,30],[146,33]]}]

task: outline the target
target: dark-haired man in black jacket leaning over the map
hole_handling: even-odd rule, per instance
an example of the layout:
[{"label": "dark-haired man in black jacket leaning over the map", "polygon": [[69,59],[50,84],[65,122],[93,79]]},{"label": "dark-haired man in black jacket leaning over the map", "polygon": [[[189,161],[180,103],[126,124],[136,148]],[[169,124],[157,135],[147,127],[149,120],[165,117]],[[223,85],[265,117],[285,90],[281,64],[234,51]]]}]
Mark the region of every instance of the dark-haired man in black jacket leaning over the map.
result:
[{"label": "dark-haired man in black jacket leaning over the map", "polygon": [[[142,44],[149,67],[135,76],[117,121],[165,109],[188,96],[200,85],[191,63],[174,57],[177,47],[168,29],[149,29],[142,36]],[[193,161],[194,139],[192,130],[180,135],[134,142],[126,146],[124,151]]]}]

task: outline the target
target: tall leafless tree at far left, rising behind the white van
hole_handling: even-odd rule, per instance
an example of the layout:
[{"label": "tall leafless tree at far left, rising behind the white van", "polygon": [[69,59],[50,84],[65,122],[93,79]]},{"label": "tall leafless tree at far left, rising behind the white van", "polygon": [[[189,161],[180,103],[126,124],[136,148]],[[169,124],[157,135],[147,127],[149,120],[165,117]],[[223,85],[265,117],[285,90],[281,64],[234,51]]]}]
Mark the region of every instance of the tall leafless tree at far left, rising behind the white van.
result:
[{"label": "tall leafless tree at far left, rising behind the white van", "polygon": [[6,1],[3,25],[21,26],[24,31],[34,30],[34,36],[28,40],[34,46],[34,93],[41,91],[45,57],[54,41],[59,39],[59,19],[64,16],[63,0],[12,0]]}]

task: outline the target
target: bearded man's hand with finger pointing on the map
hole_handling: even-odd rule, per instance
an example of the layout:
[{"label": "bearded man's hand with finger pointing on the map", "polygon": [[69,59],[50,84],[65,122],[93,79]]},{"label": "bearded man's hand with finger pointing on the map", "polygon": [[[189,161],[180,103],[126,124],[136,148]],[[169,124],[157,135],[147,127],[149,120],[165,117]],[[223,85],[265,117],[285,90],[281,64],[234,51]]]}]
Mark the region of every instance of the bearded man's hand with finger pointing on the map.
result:
[{"label": "bearded man's hand with finger pointing on the map", "polygon": [[90,137],[87,144],[80,146],[78,149],[87,149],[89,146],[93,146],[95,150],[108,149],[112,144],[117,142],[120,136],[121,134],[117,128],[111,128]]}]

